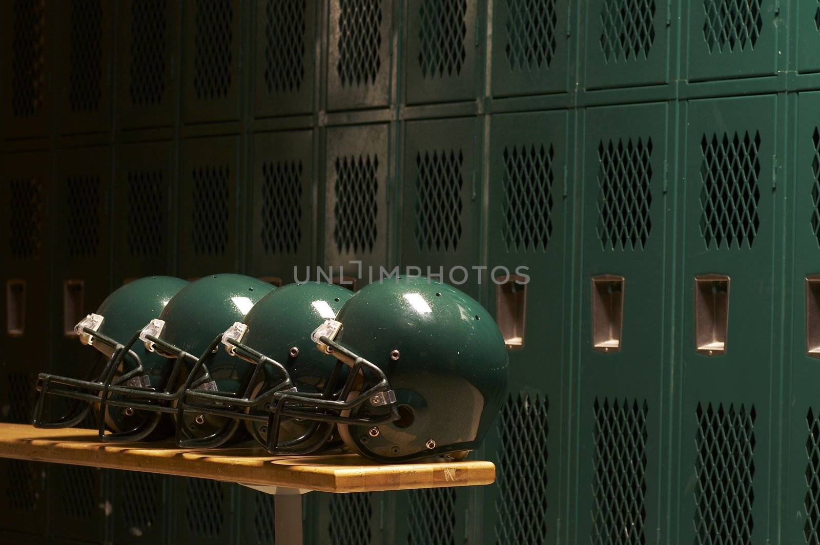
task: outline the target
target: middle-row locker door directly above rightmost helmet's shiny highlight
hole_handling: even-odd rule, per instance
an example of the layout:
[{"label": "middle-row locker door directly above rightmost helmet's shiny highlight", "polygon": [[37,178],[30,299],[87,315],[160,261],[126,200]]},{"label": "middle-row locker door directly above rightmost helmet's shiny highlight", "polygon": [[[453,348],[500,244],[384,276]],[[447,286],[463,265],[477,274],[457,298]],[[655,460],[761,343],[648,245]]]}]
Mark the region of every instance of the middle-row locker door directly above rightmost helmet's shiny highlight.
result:
[{"label": "middle-row locker door directly above rightmost helmet's shiny highlight", "polygon": [[404,126],[397,223],[402,272],[408,266],[421,275],[430,270],[477,299],[481,271],[472,267],[481,263],[482,198],[476,125],[474,118],[461,118]]}]

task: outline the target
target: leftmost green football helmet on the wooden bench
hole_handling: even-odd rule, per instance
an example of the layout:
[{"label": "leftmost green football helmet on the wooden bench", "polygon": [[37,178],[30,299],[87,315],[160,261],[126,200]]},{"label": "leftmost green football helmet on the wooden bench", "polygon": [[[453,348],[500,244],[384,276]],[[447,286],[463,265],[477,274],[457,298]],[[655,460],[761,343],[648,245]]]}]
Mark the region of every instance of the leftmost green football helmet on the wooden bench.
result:
[{"label": "leftmost green football helmet on the wooden bench", "polygon": [[[67,428],[79,425],[92,408],[99,409],[100,397],[112,385],[154,386],[167,379],[167,360],[145,350],[131,340],[153,316],[159,315],[185,280],[170,276],[150,276],[136,279],[117,288],[106,297],[97,312],[89,314],[75,326],[81,343],[96,348],[105,357],[105,366],[97,379],[72,379],[48,373],[39,375],[39,391],[34,403],[32,424],[38,428]],[[125,350],[125,345],[129,349]],[[89,376],[95,374],[93,366]],[[71,405],[57,420],[43,420],[43,409],[50,396],[68,397]],[[102,416],[102,417],[100,417]],[[109,407],[98,412],[98,428],[103,434],[130,434],[153,419],[152,413]],[[167,427],[166,427],[167,428]],[[165,429],[165,433],[172,429]]]}]

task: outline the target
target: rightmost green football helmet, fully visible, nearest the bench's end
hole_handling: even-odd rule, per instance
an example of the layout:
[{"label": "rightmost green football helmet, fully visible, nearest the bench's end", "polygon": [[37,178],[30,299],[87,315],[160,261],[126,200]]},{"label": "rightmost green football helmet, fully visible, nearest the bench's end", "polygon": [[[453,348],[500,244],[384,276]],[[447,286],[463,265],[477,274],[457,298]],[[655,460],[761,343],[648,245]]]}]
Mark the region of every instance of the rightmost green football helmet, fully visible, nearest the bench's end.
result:
[{"label": "rightmost green football helmet, fully visible, nearest the bench's end", "polygon": [[335,423],[353,451],[380,462],[461,458],[476,449],[507,395],[508,357],[481,304],[447,284],[408,277],[362,288],[312,334],[347,366],[335,398],[276,393],[284,418]]}]

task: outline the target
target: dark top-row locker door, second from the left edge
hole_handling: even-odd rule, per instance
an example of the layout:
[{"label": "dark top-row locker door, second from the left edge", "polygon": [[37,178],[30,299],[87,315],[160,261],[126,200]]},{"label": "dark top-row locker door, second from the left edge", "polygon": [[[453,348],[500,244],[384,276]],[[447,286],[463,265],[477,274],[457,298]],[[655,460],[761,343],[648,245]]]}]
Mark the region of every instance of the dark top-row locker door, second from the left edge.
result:
[{"label": "dark top-row locker door, second from the left edge", "polygon": [[59,132],[103,132],[110,125],[114,2],[55,6]]}]

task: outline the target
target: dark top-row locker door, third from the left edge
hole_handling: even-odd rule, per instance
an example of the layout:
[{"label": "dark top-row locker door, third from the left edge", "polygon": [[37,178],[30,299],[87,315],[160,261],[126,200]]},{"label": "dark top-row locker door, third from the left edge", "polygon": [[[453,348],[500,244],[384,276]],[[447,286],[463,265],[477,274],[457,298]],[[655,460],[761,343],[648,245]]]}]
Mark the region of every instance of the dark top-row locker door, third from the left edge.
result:
[{"label": "dark top-row locker door, third from the left edge", "polygon": [[174,122],[180,55],[180,7],[173,0],[125,0],[118,16],[118,125],[161,127]]}]

